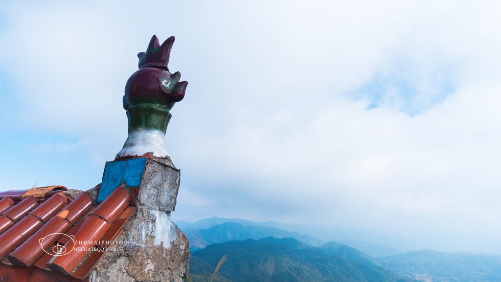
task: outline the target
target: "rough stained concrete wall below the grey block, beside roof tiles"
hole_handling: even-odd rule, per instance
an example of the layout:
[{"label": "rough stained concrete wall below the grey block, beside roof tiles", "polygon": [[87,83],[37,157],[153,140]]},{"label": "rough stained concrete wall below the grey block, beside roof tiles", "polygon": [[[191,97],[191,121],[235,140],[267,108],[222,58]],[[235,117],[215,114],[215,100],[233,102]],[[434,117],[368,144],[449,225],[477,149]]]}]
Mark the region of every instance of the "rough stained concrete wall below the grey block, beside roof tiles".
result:
[{"label": "rough stained concrete wall below the grey block, beside roof tiles", "polygon": [[188,275],[188,239],[170,220],[170,212],[137,206],[116,239],[122,251],[108,251],[91,273],[91,282],[174,281]]}]

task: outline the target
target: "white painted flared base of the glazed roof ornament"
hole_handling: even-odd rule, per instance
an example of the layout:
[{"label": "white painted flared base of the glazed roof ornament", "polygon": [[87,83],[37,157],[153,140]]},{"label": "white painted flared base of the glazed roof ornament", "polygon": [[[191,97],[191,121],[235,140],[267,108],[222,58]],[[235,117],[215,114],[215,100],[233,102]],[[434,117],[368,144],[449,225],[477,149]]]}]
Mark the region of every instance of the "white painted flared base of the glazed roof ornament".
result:
[{"label": "white painted flared base of the glazed roof ornament", "polygon": [[146,153],[153,153],[153,156],[158,158],[169,156],[163,132],[144,128],[132,131],[115,159],[127,156],[142,156]]}]

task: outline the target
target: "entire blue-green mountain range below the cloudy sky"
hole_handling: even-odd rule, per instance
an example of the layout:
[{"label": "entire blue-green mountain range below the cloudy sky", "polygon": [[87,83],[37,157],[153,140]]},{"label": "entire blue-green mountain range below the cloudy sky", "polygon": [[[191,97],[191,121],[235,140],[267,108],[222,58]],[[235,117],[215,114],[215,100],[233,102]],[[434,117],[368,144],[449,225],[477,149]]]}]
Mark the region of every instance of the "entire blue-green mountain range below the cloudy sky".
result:
[{"label": "entire blue-green mountain range below the cloudy sky", "polygon": [[190,241],[195,282],[209,281],[223,254],[228,262],[214,281],[501,281],[499,255],[403,252],[369,241],[327,241],[276,222],[213,217],[177,224]]}]

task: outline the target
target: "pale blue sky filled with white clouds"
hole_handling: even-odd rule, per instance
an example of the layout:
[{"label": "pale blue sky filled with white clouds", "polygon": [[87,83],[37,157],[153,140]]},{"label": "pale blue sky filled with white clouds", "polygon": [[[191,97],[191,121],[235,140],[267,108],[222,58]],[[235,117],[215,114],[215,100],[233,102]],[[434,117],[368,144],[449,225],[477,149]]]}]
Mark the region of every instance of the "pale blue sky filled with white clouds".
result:
[{"label": "pale blue sky filled with white clouds", "polygon": [[100,183],[127,137],[136,54],[175,36],[169,69],[189,85],[166,134],[181,169],[173,220],[501,252],[500,13],[495,1],[0,1],[0,190]]}]

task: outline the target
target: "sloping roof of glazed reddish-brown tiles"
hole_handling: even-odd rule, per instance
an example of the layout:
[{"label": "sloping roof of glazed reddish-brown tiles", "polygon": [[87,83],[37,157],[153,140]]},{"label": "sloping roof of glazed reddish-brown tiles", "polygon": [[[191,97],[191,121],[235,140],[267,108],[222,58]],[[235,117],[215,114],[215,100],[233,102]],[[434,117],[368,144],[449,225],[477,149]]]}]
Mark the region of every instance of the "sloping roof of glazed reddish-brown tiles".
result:
[{"label": "sloping roof of glazed reddish-brown tiles", "polygon": [[74,199],[64,186],[0,191],[0,278],[86,279],[135,211],[123,187],[97,204],[99,188]]}]

